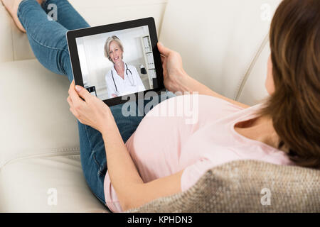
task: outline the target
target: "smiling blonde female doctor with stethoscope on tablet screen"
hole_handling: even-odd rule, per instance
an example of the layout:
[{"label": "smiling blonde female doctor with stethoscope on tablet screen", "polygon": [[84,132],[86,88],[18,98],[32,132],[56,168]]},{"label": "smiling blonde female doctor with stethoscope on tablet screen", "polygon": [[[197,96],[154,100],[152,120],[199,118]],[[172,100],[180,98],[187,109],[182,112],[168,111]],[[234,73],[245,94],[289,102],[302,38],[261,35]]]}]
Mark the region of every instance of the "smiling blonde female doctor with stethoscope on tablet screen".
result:
[{"label": "smiling blonde female doctor with stethoscope on tablet screen", "polygon": [[112,69],[105,75],[109,99],[145,90],[136,67],[123,62],[123,52],[123,45],[117,36],[107,38],[105,57],[113,63]]}]

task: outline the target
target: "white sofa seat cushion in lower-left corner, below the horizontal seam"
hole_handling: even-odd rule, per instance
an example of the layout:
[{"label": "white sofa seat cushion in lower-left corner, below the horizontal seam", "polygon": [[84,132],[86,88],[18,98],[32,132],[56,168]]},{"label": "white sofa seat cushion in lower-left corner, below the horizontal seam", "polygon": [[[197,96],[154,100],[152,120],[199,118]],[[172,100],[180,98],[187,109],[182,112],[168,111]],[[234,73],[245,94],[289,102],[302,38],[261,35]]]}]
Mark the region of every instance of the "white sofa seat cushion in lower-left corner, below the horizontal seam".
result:
[{"label": "white sofa seat cushion in lower-left corner, below the horizontal seam", "polygon": [[46,154],[0,170],[0,212],[109,212],[90,192],[80,157]]}]

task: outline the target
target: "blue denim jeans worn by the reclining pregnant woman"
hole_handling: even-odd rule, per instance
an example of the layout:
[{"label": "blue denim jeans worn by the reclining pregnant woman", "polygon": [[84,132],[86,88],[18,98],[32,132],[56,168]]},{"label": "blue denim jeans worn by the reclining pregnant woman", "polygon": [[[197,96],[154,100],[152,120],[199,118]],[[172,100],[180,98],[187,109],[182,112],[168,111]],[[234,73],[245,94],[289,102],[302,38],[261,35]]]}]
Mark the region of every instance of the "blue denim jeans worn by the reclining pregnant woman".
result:
[{"label": "blue denim jeans worn by the reclining pregnant woman", "polygon": [[[58,9],[58,21],[49,21],[47,13],[49,4],[55,4]],[[65,33],[68,30],[90,27],[80,14],[75,11],[67,0],[47,0],[40,6],[36,0],[23,0],[18,7],[18,18],[26,29],[31,48],[41,64],[57,74],[66,75],[73,81],[73,71],[70,65],[68,44]],[[174,96],[171,92],[165,98]],[[161,101],[164,97],[156,96]],[[144,106],[149,101],[144,100]],[[136,103],[137,105],[137,103]],[[134,133],[145,116],[122,115],[123,104],[111,106],[110,109],[117,123],[124,143]],[[137,111],[138,108],[136,107]],[[137,113],[137,112],[136,112]],[[78,121],[80,138],[80,157],[82,170],[88,186],[97,199],[105,204],[103,182],[107,172],[105,144],[99,131]]]}]

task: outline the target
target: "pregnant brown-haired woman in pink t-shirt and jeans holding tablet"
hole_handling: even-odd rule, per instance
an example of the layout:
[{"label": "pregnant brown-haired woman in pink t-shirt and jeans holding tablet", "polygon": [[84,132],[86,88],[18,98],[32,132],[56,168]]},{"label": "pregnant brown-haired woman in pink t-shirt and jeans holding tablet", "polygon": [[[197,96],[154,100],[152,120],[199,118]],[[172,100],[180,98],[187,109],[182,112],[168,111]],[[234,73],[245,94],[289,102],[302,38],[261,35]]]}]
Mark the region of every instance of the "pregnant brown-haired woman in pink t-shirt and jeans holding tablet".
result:
[{"label": "pregnant brown-haired woman in pink t-shirt and jeans holding tablet", "polygon": [[[71,82],[65,32],[87,23],[65,0],[42,4],[46,9],[46,4],[55,3],[68,12],[60,13],[57,23],[47,22],[45,11],[34,0],[10,2],[4,4],[17,25],[26,29],[38,60],[66,74]],[[183,96],[161,102],[149,117],[125,118],[121,105],[109,108],[71,82],[68,103],[79,120],[82,168],[92,192],[111,211],[119,212],[184,191],[206,170],[233,160],[319,168],[319,11],[319,0],[280,4],[270,28],[265,83],[270,97],[257,106],[227,99],[192,79],[178,53],[158,44],[166,88],[201,94],[198,122],[193,125],[186,125],[183,117],[151,115]],[[47,56],[53,56],[51,62]]]}]

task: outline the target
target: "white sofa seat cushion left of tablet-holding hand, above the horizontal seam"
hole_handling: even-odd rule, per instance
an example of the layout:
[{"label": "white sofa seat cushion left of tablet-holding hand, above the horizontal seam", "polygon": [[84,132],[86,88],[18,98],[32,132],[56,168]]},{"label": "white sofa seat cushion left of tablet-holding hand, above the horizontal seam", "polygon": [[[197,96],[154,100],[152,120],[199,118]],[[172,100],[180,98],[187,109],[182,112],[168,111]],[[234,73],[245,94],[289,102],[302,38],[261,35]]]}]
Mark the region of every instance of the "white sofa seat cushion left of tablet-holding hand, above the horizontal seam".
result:
[{"label": "white sofa seat cushion left of tablet-holding hand, above the horizontal seam", "polygon": [[37,60],[0,63],[0,168],[16,158],[79,153],[78,123],[67,102],[69,81]]}]

